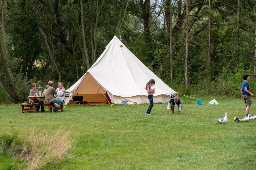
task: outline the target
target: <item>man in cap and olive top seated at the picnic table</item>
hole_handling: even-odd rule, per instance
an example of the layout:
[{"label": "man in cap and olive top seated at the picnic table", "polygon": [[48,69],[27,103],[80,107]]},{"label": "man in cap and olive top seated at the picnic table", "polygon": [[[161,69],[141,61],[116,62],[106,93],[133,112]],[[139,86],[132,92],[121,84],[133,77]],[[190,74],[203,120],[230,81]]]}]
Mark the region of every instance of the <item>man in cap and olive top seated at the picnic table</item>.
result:
[{"label": "man in cap and olive top seated at the picnic table", "polygon": [[57,92],[56,92],[56,90],[54,90],[52,85],[53,85],[53,81],[49,81],[48,85],[46,85],[45,90],[44,90],[44,97],[45,97],[45,101],[47,103],[51,103],[51,104],[55,105],[55,107],[53,107],[52,111],[57,112],[58,108],[61,107],[63,101],[60,99],[55,99],[54,95],[56,95]]}]

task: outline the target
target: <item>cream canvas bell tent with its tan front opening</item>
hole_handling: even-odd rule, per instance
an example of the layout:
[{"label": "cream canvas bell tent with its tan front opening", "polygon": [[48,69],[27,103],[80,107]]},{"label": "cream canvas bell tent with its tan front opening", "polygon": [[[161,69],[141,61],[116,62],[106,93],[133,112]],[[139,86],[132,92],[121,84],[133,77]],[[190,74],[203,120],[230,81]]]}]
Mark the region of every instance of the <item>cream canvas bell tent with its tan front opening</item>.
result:
[{"label": "cream canvas bell tent with its tan front opening", "polygon": [[125,45],[116,37],[108,43],[98,60],[69,89],[68,104],[72,96],[83,96],[87,102],[100,103],[106,101],[106,94],[112,103],[129,104],[148,103],[145,86],[154,79],[156,89],[154,102],[168,102],[169,95],[174,93],[168,85],[148,69]]}]

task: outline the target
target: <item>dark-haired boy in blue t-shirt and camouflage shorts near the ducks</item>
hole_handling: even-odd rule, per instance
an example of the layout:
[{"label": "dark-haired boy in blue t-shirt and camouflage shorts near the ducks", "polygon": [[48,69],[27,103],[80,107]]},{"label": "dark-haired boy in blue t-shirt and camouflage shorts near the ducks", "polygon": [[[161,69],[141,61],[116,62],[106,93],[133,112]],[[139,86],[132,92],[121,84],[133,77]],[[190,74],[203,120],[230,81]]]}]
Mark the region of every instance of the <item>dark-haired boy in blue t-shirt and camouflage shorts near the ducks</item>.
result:
[{"label": "dark-haired boy in blue t-shirt and camouflage shorts near the ducks", "polygon": [[241,86],[241,96],[242,96],[242,99],[244,99],[245,116],[248,116],[250,106],[252,105],[251,96],[253,96],[253,94],[252,92],[250,92],[250,86],[248,83],[248,81],[250,80],[249,74],[244,74],[243,78],[244,78],[244,81]]}]

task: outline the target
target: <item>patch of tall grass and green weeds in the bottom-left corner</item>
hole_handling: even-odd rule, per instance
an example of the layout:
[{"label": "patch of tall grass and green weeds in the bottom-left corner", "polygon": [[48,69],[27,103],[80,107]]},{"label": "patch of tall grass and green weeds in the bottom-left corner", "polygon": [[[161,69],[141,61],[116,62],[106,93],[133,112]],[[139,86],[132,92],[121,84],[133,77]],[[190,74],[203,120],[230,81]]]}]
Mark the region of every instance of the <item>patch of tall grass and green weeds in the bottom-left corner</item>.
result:
[{"label": "patch of tall grass and green weeds in the bottom-left corner", "polygon": [[71,131],[65,128],[54,132],[33,130],[28,135],[6,133],[0,137],[0,153],[24,160],[19,168],[41,169],[67,159],[73,143]]}]

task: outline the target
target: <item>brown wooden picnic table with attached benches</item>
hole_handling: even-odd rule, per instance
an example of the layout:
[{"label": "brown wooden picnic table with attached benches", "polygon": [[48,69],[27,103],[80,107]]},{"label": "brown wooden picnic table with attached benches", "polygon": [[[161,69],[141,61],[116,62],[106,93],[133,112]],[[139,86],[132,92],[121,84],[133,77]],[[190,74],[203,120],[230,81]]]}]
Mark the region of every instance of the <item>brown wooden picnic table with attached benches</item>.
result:
[{"label": "brown wooden picnic table with attached benches", "polygon": [[[44,96],[28,96],[28,98],[32,98],[32,102],[31,103],[20,103],[21,106],[21,111],[22,113],[24,112],[34,112],[36,113],[36,107],[37,106],[48,106],[48,112],[52,112],[52,107],[54,107],[54,104],[51,103],[44,103],[44,104],[40,104],[40,103],[35,103],[36,98],[43,98]],[[60,108],[58,108],[58,110],[60,110],[61,112],[63,111],[63,105],[61,105]],[[25,108],[27,107],[27,108]]]}]

